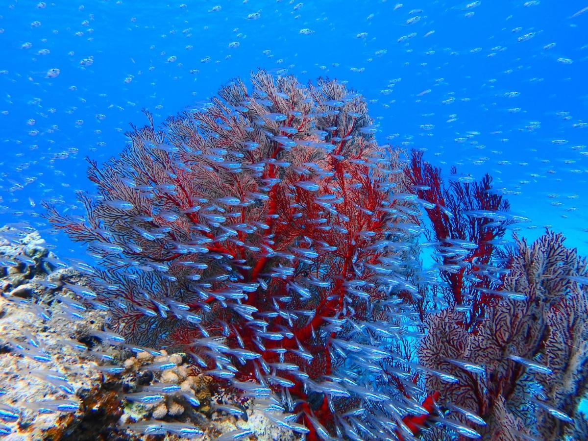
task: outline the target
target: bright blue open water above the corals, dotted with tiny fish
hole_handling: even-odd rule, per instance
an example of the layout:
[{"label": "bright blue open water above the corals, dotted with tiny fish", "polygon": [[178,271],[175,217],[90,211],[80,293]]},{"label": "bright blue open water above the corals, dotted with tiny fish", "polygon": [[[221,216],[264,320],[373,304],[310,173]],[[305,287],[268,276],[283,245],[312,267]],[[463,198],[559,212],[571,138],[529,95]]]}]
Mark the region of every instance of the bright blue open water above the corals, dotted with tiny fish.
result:
[{"label": "bright blue open water above the corals, dotted with tiny fish", "polygon": [[121,151],[143,108],[162,121],[263,68],[348,81],[380,142],[427,149],[445,171],[491,173],[531,220],[523,235],[548,225],[586,249],[584,6],[2,2],[2,222],[34,216],[48,196],[74,203],[88,186],[83,158]]}]

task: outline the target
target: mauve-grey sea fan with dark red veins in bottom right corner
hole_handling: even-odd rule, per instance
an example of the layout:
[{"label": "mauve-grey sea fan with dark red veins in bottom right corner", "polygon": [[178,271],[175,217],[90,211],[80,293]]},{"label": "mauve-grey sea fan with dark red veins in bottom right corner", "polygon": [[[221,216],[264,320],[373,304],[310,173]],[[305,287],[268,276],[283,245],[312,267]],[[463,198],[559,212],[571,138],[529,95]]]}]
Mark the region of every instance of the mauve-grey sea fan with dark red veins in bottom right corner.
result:
[{"label": "mauve-grey sea fan with dark red veins in bottom right corner", "polygon": [[442,388],[440,409],[483,439],[586,439],[578,406],[588,389],[587,262],[563,242],[552,232],[531,246],[516,239],[500,290],[524,299],[487,307],[473,332],[456,309],[426,320],[420,362],[457,379],[428,376],[427,388]]}]

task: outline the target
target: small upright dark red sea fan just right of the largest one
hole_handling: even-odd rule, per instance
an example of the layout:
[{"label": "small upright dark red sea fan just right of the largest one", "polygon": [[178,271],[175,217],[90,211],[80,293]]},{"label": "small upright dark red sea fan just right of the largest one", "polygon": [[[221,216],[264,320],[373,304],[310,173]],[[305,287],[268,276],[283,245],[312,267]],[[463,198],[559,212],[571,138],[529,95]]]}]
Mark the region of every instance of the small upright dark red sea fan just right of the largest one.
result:
[{"label": "small upright dark red sea fan just right of the largest one", "polygon": [[[523,219],[508,212],[509,202],[492,191],[489,175],[475,181],[457,176],[454,168],[446,184],[441,169],[424,161],[419,151],[413,151],[405,173],[429,218],[425,234],[435,248],[433,258],[443,282],[435,289],[436,300],[467,308],[465,325],[472,330],[486,306],[499,298],[495,290],[506,272],[500,249],[507,242],[506,228]],[[438,305],[417,306],[424,318],[427,308]]]}]

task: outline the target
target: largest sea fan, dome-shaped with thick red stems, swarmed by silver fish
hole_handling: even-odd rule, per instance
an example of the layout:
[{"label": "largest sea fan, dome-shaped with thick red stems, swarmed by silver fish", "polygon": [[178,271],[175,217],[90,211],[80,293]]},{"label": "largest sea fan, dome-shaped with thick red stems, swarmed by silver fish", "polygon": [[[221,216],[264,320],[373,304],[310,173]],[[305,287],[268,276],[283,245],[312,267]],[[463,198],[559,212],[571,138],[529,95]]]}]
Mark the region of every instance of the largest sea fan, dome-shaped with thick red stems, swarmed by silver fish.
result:
[{"label": "largest sea fan, dome-shaped with thick red stems, swarmed by silver fish", "polygon": [[308,439],[412,437],[418,323],[397,293],[417,295],[420,228],[391,197],[407,194],[400,152],[342,83],[252,83],[161,129],[148,114],[118,158],[91,161],[85,220],[48,207],[101,261],[81,296],[128,343],[181,348]]}]

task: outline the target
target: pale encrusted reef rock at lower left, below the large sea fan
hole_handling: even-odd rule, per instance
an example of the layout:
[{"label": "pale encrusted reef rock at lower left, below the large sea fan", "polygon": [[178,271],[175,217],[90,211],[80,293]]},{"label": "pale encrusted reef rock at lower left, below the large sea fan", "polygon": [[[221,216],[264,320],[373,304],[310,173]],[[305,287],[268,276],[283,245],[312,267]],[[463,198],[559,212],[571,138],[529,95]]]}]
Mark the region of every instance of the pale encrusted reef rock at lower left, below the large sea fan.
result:
[{"label": "pale encrusted reef rock at lower left, below the large sea fan", "polygon": [[[38,232],[0,229],[0,406],[15,412],[0,422],[6,439],[148,441],[145,426],[158,422],[196,427],[205,441],[238,432],[247,434],[242,440],[297,439],[251,401],[242,416],[223,412],[218,406],[235,397],[186,354],[134,346],[133,352],[97,338],[108,330],[108,311],[88,309],[75,320],[64,312],[76,298],[68,284],[83,286],[88,275],[51,262],[61,263]],[[170,391],[161,401],[141,402],[141,393],[161,385]],[[75,407],[39,412],[65,402]]]}]

